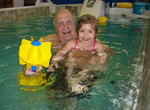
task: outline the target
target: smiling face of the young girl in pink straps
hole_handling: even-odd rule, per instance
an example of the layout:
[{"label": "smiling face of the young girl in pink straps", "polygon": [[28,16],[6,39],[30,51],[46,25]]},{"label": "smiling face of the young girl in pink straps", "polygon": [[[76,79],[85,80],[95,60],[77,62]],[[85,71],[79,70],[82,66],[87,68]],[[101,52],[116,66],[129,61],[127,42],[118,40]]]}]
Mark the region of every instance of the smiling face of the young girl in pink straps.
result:
[{"label": "smiling face of the young girl in pink straps", "polygon": [[91,24],[82,24],[78,32],[79,40],[84,43],[91,43],[95,40],[95,29]]}]

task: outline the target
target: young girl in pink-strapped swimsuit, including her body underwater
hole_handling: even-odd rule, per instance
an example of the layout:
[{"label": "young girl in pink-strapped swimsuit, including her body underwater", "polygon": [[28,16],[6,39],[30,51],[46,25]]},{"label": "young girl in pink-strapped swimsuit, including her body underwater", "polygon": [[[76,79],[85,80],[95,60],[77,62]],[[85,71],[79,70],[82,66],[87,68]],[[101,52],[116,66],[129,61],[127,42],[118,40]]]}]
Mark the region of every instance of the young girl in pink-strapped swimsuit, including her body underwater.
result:
[{"label": "young girl in pink-strapped swimsuit, including her body underwater", "polygon": [[[88,85],[81,84],[81,82],[94,78],[95,76],[89,74],[89,71],[93,71],[93,69],[94,71],[99,70],[97,67],[101,67],[107,60],[108,55],[104,51],[103,44],[96,40],[97,32],[96,18],[88,14],[81,16],[77,25],[78,38],[68,41],[53,56],[51,64],[47,69],[47,72],[53,72],[53,67],[57,68],[58,66],[57,62],[64,59],[67,55],[65,79],[67,80],[69,90],[75,94],[89,91]],[[98,66],[94,68],[91,65]]]}]

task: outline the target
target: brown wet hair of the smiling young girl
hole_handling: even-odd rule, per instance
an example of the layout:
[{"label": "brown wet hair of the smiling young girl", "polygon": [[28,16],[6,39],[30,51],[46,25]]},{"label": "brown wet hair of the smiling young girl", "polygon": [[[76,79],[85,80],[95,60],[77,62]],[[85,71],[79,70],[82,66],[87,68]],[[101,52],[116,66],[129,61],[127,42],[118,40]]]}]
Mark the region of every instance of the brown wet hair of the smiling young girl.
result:
[{"label": "brown wet hair of the smiling young girl", "polygon": [[[98,29],[97,29],[97,20],[96,17],[90,14],[85,14],[81,16],[78,19],[78,24],[77,24],[77,34],[82,26],[82,24],[91,24],[92,28],[95,29],[95,33],[97,34]],[[96,36],[95,36],[96,37]]]}]

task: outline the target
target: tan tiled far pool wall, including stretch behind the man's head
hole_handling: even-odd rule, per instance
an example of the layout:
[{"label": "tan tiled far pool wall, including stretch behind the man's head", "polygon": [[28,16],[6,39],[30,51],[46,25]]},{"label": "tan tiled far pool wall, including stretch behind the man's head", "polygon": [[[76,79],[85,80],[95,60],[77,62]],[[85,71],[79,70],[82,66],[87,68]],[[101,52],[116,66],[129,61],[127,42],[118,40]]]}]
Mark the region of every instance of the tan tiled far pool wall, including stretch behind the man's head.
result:
[{"label": "tan tiled far pool wall, including stretch behind the man's head", "polygon": [[[55,7],[55,12],[59,9],[67,8],[72,13],[79,12],[81,8],[81,4],[74,5],[60,5]],[[17,18],[23,15],[33,15],[33,14],[42,14],[42,13],[50,13],[50,6],[26,6],[26,7],[17,7],[17,8],[4,8],[0,9],[0,20],[8,19],[8,18]]]}]

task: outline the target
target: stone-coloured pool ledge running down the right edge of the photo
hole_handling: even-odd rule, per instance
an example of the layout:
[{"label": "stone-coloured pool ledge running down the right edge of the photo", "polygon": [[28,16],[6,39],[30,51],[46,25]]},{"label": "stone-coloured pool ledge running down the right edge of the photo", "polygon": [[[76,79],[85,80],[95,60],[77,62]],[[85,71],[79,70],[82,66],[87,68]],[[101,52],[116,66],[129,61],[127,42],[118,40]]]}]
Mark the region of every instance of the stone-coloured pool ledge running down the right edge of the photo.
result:
[{"label": "stone-coloured pool ledge running down the right edge of the photo", "polygon": [[[150,20],[149,27],[150,30]],[[150,31],[147,33],[144,71],[136,110],[150,110]]]}]

